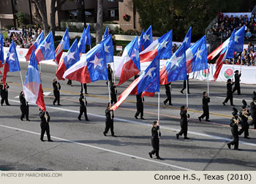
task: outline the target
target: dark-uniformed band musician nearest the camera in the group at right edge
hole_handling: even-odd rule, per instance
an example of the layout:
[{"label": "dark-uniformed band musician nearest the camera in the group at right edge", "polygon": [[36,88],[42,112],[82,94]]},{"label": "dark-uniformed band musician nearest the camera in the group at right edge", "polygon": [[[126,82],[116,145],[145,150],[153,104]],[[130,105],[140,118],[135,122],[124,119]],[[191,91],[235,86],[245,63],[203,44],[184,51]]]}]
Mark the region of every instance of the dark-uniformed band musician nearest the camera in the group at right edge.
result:
[{"label": "dark-uniformed band musician nearest the camera in the group at right edge", "polygon": [[231,133],[234,137],[233,141],[227,143],[227,147],[230,148],[230,145],[235,145],[234,150],[238,150],[238,143],[239,143],[239,137],[238,137],[238,115],[233,116],[233,118],[230,120],[230,127],[231,127]]}]

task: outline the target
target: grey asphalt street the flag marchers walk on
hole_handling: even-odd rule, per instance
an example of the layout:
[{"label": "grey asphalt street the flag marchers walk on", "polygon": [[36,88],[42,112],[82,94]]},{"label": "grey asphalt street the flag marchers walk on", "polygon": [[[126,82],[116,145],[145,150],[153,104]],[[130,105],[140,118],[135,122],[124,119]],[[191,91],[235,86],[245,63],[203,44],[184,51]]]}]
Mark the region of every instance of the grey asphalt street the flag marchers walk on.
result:
[{"label": "grey asphalt street the flag marchers walk on", "polygon": [[[20,67],[25,80],[28,64]],[[202,114],[202,92],[207,83],[191,80],[189,94],[189,133],[191,140],[176,139],[179,126],[179,107],[186,104],[186,94],[181,94],[182,82],[172,84],[173,106],[165,106],[165,88],[160,91],[159,154],[164,160],[149,158],[151,126],[157,120],[157,95],[146,97],[144,118],[136,120],[135,96],[129,96],[115,112],[114,131],[117,137],[104,137],[105,108],[108,104],[108,87],[105,81],[88,84],[87,112],[89,122],[78,120],[80,83],[73,87],[61,81],[61,106],[53,106],[55,67],[42,65],[42,87],[45,104],[50,114],[50,134],[53,142],[39,139],[39,111],[31,104],[28,121],[20,120],[18,95],[22,90],[20,74],[8,73],[9,99],[12,106],[0,107],[0,170],[256,170],[256,131],[249,130],[251,139],[241,136],[241,151],[229,150],[232,139],[230,117],[232,107],[222,105],[225,83],[209,83],[210,120],[199,122]],[[124,91],[131,81],[117,88]],[[241,100],[249,104],[255,85],[241,85],[243,95],[234,95],[234,104],[241,110]],[[252,128],[252,126],[251,126]],[[110,134],[110,133],[108,133]],[[45,139],[47,139],[45,137]]]}]

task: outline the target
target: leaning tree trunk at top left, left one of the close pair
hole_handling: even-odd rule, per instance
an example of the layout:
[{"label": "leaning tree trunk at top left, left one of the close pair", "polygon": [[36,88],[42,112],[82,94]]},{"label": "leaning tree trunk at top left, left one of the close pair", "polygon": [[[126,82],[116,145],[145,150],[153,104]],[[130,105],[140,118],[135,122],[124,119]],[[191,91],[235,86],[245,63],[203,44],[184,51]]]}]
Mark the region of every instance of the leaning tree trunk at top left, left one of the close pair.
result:
[{"label": "leaning tree trunk at top left, left one of the close pair", "polygon": [[46,12],[46,3],[45,0],[33,0],[32,3],[34,3],[39,10],[39,17],[42,18],[42,26],[45,31],[45,35],[49,32],[49,26],[47,21],[47,12]]}]

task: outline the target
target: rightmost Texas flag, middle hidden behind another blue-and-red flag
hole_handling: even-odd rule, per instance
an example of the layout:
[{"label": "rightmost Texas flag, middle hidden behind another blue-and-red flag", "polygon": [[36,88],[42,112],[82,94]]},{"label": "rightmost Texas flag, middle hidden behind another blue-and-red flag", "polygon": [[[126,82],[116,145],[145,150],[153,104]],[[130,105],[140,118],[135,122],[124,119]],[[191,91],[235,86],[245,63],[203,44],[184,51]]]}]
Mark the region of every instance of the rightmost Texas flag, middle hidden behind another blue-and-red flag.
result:
[{"label": "rightmost Texas flag, middle hidden behind another blue-and-red flag", "polygon": [[[241,27],[238,31],[236,31],[235,34],[235,52],[242,52],[244,48],[244,31],[245,31],[245,26]],[[217,49],[212,51],[208,56],[208,60],[212,60],[215,58],[222,50],[227,47],[227,45],[230,42],[230,38],[227,39],[225,42],[222,43],[222,45],[219,45]]]}]

